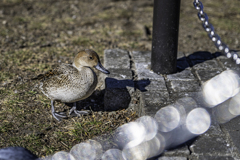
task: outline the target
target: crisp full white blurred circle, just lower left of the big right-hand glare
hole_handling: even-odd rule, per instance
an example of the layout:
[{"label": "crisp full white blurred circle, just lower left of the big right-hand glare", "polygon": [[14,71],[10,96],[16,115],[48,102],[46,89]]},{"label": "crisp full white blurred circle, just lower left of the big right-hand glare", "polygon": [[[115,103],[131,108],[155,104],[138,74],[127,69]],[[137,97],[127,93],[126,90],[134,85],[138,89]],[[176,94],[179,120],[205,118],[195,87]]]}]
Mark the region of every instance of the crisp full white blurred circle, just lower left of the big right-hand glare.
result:
[{"label": "crisp full white blurred circle, just lower left of the big right-hand glare", "polygon": [[203,134],[211,125],[209,113],[203,108],[195,108],[187,115],[187,129],[193,134]]}]

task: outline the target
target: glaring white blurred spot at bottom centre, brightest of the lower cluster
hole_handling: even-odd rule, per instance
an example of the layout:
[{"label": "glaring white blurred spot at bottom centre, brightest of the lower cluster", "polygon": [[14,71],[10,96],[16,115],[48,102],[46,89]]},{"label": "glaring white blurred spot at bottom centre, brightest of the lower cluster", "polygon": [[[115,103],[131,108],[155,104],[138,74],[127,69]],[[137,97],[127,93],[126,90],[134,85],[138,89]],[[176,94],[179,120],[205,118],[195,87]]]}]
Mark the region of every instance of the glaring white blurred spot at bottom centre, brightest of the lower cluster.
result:
[{"label": "glaring white blurred spot at bottom centre, brightest of the lower cluster", "polygon": [[130,122],[117,129],[116,139],[121,148],[133,147],[145,139],[146,130],[142,123]]}]

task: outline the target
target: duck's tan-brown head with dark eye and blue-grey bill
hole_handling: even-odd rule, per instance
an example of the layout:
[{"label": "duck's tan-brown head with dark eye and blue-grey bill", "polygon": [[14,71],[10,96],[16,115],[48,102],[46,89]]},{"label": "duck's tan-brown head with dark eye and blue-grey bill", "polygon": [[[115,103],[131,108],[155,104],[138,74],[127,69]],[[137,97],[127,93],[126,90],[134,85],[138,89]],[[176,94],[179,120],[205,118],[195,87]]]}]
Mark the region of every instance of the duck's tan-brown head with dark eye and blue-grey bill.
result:
[{"label": "duck's tan-brown head with dark eye and blue-grey bill", "polygon": [[81,69],[81,67],[94,67],[105,74],[110,74],[110,72],[102,66],[98,54],[91,49],[80,51],[74,58],[73,66],[77,69]]}]

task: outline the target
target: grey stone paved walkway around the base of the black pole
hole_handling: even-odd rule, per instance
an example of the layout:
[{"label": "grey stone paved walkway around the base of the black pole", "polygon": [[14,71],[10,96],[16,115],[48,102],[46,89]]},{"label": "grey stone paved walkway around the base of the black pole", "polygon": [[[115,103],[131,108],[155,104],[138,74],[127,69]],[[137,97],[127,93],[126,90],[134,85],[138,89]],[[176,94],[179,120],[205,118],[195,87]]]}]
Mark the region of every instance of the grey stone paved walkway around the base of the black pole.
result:
[{"label": "grey stone paved walkway around the base of the black pole", "polygon": [[[154,116],[160,108],[179,98],[198,99],[201,85],[222,71],[240,70],[232,60],[218,53],[179,53],[179,72],[162,76],[150,70],[150,56],[150,52],[105,50],[104,66],[111,72],[105,86],[106,110],[129,107],[139,116]],[[211,118],[212,125],[206,133],[155,159],[240,159],[240,117],[222,125]]]}]

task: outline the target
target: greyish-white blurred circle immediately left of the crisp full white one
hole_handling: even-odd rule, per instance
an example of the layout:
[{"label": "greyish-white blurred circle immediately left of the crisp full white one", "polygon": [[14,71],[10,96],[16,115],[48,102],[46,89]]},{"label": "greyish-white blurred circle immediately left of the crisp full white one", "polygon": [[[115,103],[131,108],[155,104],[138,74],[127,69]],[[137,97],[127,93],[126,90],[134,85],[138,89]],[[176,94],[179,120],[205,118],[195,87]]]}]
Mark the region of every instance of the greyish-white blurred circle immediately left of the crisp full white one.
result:
[{"label": "greyish-white blurred circle immediately left of the crisp full white one", "polygon": [[158,123],[158,129],[162,132],[169,132],[178,127],[180,113],[173,106],[166,106],[160,109],[154,116]]}]

